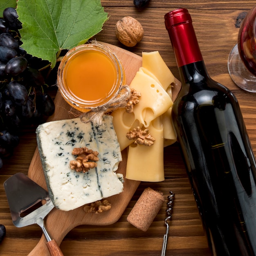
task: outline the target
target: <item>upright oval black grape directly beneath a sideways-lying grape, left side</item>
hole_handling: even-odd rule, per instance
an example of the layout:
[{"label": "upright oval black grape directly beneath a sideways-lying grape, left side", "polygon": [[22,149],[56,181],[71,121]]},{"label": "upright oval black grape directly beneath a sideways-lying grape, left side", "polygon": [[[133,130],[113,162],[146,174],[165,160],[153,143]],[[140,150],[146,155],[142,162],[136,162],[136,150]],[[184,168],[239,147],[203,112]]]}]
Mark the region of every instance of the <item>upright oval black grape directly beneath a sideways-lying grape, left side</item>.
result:
[{"label": "upright oval black grape directly beneath a sideways-lying grape, left side", "polygon": [[24,85],[22,85],[16,80],[13,80],[8,84],[7,88],[9,94],[11,95],[16,105],[20,106],[25,105],[27,103],[28,95],[27,89]]}]

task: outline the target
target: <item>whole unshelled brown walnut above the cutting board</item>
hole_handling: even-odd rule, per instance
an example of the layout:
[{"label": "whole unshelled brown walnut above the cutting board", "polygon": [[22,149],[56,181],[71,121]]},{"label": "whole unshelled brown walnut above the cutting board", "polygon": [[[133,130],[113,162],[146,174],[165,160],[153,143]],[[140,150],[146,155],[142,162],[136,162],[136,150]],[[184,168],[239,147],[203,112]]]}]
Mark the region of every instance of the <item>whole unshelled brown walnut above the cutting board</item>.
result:
[{"label": "whole unshelled brown walnut above the cutting board", "polygon": [[128,47],[135,46],[144,36],[144,29],[138,20],[126,16],[115,27],[117,39]]}]

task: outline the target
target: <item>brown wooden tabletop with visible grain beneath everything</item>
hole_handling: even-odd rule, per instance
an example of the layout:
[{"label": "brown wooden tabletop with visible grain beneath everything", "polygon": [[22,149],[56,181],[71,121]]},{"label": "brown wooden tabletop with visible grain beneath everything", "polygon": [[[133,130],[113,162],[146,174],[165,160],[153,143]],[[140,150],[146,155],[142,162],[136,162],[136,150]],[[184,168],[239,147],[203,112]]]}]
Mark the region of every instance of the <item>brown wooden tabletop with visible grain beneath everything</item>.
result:
[{"label": "brown wooden tabletop with visible grain beneath everything", "polygon": [[[133,0],[102,0],[101,3],[110,18],[103,25],[103,31],[95,38],[128,49],[140,56],[142,51],[158,50],[177,79],[179,74],[164,26],[164,14],[176,8],[189,9],[209,74],[231,89],[238,98],[254,153],[256,152],[256,94],[239,89],[230,79],[227,69],[229,52],[237,41],[236,18],[240,13],[251,9],[255,1],[150,0],[145,9],[136,9]],[[144,27],[143,40],[132,48],[121,45],[115,36],[115,24],[124,16],[136,18]],[[35,128],[24,129],[15,155],[11,159],[4,160],[4,167],[0,170],[0,184],[15,173],[27,174],[36,149]],[[137,229],[126,220],[144,189],[151,187],[163,191],[166,198],[169,190],[175,192],[166,256],[211,255],[177,143],[164,149],[164,164],[164,182],[141,182],[127,209],[116,223],[109,226],[83,225],[74,228],[61,243],[63,254],[65,256],[160,255],[166,232],[164,225],[166,204],[160,209],[146,232]],[[14,227],[2,185],[0,186],[0,224],[7,229],[7,235],[0,243],[0,255],[27,255],[42,235],[37,225]]]}]

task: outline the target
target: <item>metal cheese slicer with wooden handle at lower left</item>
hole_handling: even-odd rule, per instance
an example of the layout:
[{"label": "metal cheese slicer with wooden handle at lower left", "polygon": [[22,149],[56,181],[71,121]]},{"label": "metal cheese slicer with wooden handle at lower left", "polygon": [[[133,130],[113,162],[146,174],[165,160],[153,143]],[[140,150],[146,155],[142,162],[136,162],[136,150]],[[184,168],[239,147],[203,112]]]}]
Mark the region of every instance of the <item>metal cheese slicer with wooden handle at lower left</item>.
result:
[{"label": "metal cheese slicer with wooden handle at lower left", "polygon": [[[52,240],[44,225],[45,216],[54,208],[49,193],[23,173],[16,173],[4,182],[11,218],[16,227],[38,224],[47,240],[52,256],[63,256],[55,240]],[[29,213],[29,209],[45,202]],[[26,214],[27,213],[27,214]]]}]

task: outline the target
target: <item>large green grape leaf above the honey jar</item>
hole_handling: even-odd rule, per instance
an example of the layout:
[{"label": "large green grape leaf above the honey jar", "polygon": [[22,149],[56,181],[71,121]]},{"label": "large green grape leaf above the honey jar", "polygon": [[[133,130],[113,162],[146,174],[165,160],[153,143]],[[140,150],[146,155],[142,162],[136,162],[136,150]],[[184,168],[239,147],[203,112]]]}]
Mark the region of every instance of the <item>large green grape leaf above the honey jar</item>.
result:
[{"label": "large green grape leaf above the honey jar", "polygon": [[18,0],[21,40],[29,54],[56,65],[56,54],[85,43],[108,19],[100,0]]}]

